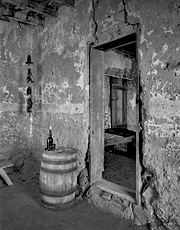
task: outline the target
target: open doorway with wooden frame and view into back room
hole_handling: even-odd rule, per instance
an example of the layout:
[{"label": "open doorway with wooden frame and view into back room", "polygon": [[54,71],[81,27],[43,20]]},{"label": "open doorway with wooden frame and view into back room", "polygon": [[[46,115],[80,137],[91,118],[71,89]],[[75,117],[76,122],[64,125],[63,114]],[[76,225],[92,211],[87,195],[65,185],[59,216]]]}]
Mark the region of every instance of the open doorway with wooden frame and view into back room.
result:
[{"label": "open doorway with wooden frame and view into back room", "polygon": [[116,192],[122,189],[131,195],[134,192],[137,203],[140,197],[138,39],[136,31],[98,44],[91,50],[90,59],[91,183],[100,183],[104,190],[109,186]]}]

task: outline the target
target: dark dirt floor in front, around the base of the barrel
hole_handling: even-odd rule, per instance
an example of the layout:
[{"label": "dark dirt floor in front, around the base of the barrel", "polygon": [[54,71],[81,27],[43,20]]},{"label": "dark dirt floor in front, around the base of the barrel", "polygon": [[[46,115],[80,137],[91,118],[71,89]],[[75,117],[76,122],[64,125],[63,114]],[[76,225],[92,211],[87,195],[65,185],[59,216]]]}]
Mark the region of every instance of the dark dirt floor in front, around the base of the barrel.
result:
[{"label": "dark dirt floor in front, around the base of the barrel", "polygon": [[40,202],[39,177],[13,172],[13,185],[0,186],[1,230],[146,230],[133,222],[103,212],[87,200],[76,199],[68,208],[53,211]]}]

